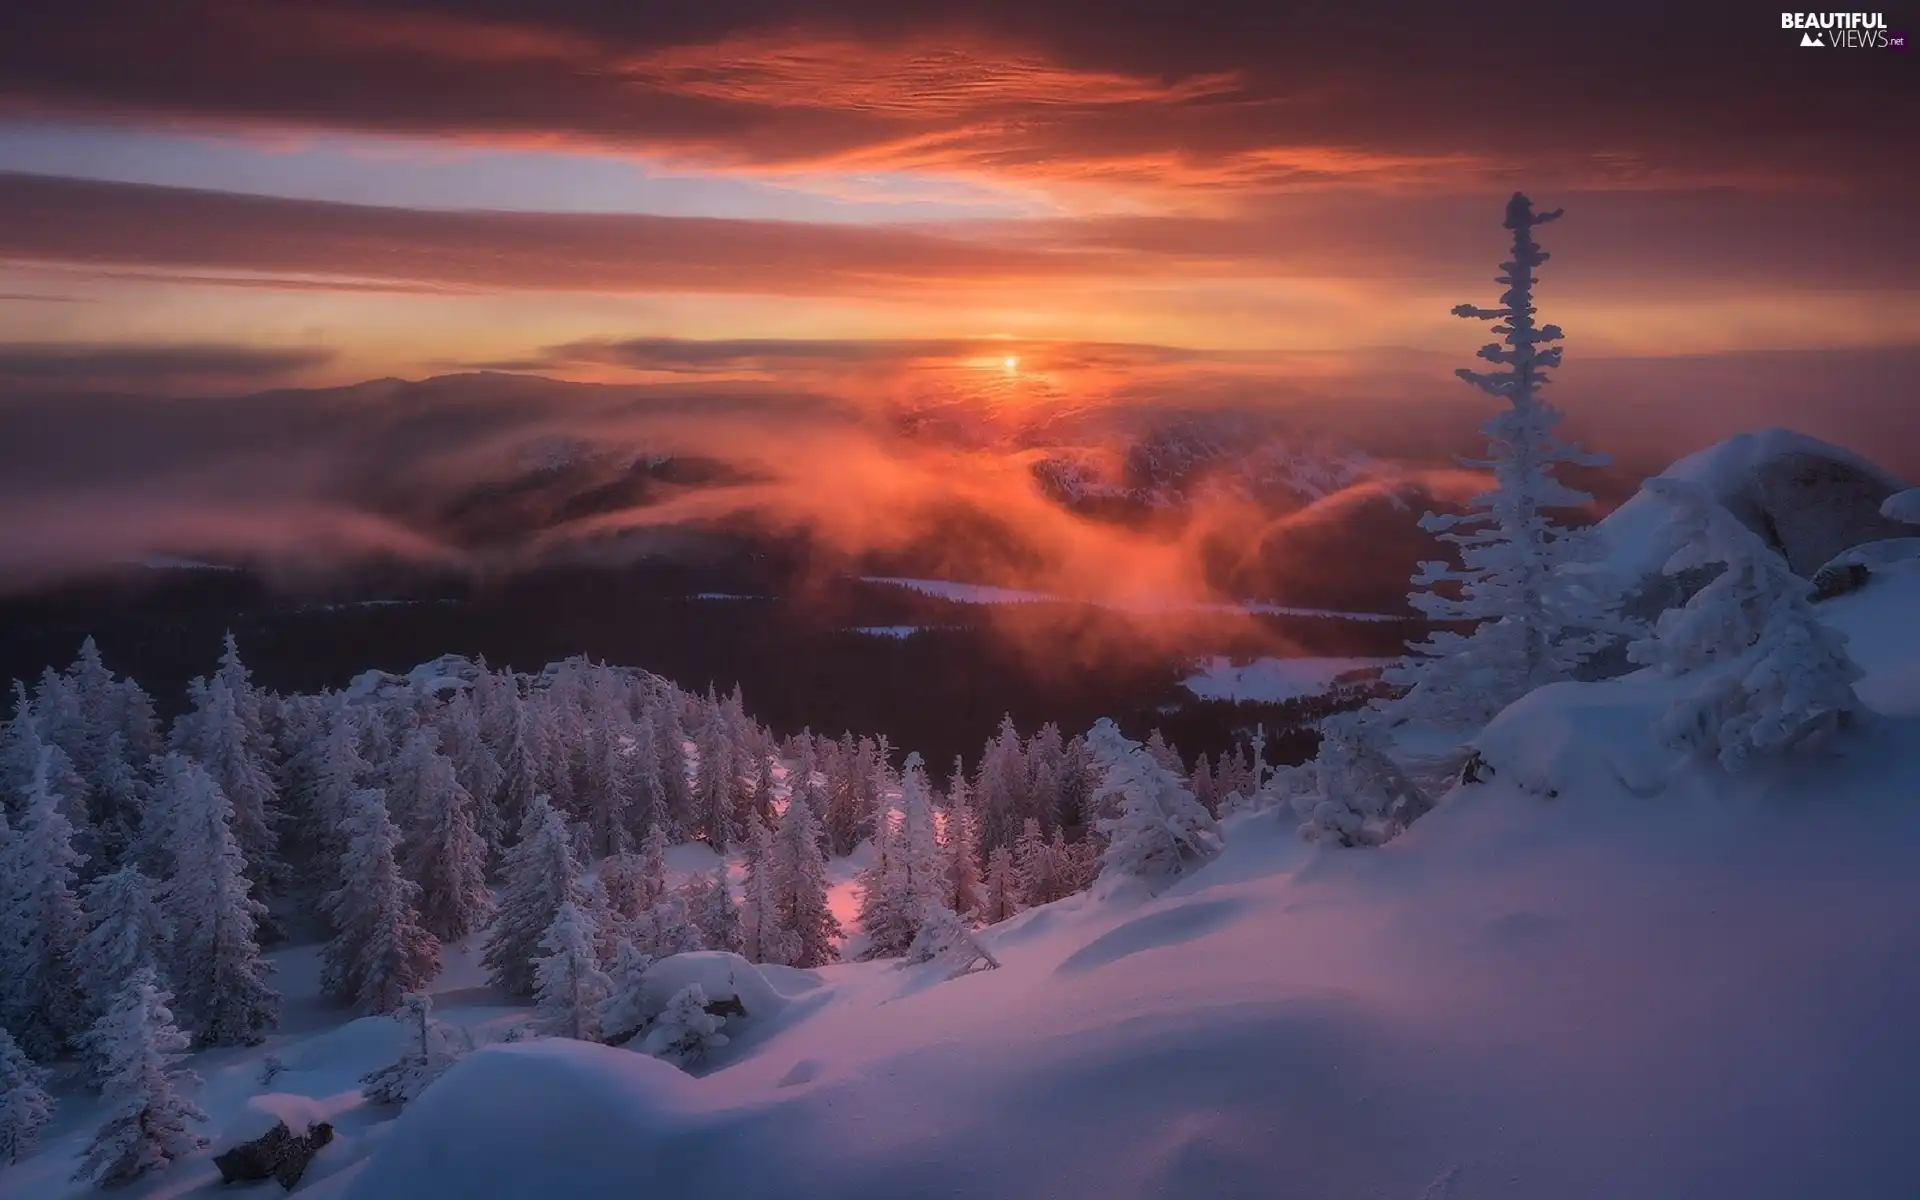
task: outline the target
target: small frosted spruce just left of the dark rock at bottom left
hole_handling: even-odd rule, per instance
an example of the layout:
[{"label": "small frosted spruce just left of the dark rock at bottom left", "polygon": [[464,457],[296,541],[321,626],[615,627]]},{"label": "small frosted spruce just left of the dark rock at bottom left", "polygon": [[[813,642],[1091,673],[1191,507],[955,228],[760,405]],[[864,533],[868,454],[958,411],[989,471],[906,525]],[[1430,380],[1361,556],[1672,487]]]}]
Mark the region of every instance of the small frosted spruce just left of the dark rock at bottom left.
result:
[{"label": "small frosted spruce just left of the dark rock at bottom left", "polygon": [[159,977],[142,968],[86,1033],[88,1050],[106,1064],[102,1091],[111,1110],[75,1179],[100,1187],[127,1183],[207,1144],[190,1129],[207,1114],[180,1094],[180,1087],[198,1085],[200,1077],[175,1066],[186,1035],[173,1023],[171,1000]]}]

